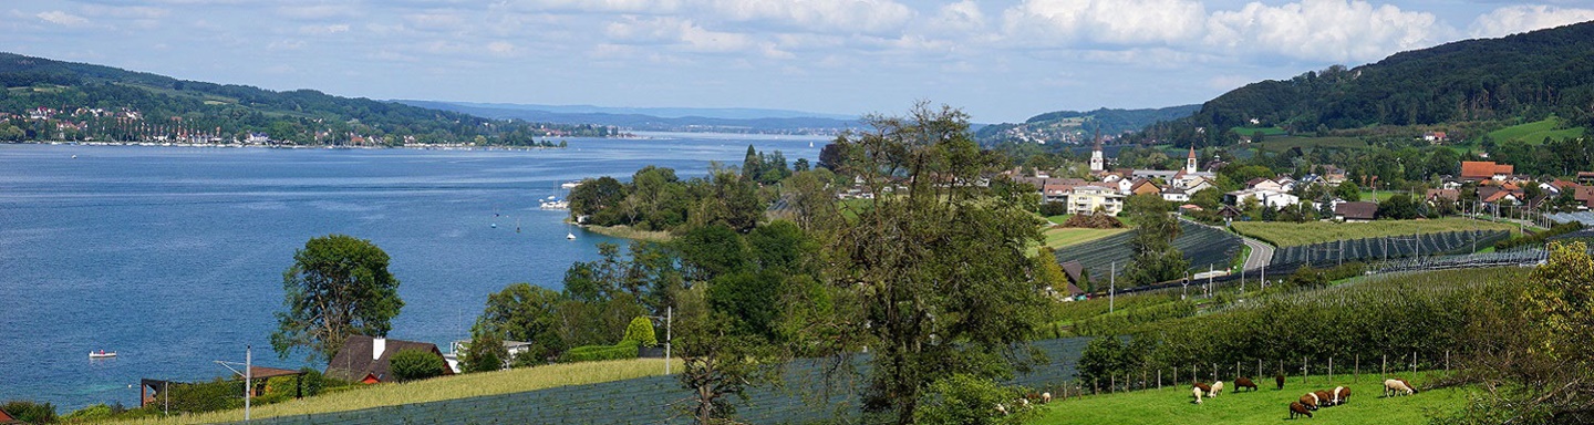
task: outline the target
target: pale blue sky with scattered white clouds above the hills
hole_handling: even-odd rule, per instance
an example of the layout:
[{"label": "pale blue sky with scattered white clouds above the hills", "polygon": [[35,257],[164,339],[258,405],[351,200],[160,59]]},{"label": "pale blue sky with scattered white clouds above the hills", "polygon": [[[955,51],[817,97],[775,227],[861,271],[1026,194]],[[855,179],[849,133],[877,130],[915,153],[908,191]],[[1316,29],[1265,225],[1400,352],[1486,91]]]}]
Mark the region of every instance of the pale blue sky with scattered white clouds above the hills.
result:
[{"label": "pale blue sky with scattered white clouds above the hills", "polygon": [[265,89],[976,123],[1594,21],[1594,0],[8,0],[0,51]]}]

